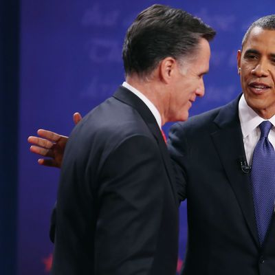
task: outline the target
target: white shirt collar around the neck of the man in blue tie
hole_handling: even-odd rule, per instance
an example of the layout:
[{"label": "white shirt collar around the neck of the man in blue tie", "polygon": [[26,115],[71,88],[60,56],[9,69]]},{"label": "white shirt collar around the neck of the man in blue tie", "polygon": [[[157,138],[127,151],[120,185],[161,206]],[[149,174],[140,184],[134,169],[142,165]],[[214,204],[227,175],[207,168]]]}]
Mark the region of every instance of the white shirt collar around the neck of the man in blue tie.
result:
[{"label": "white shirt collar around the neck of the man in blue tie", "polygon": [[[241,131],[243,133],[243,138],[247,137],[256,129],[256,127],[264,121],[251,107],[248,106],[248,103],[245,100],[245,97],[242,95],[239,101],[239,119],[241,122]],[[275,125],[275,115],[269,119],[270,122]]]}]

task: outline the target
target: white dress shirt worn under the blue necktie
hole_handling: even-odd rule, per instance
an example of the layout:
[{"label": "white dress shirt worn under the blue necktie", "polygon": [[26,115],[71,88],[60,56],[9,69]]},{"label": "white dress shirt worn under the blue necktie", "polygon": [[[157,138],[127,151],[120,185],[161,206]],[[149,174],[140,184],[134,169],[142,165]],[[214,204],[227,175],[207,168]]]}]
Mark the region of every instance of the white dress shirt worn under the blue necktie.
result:
[{"label": "white dress shirt worn under the blue necktie", "polygon": [[[239,101],[239,118],[241,122],[241,131],[243,133],[243,144],[245,146],[245,156],[249,165],[252,163],[254,148],[261,136],[259,124],[265,119],[261,118],[252,108],[248,106],[245,97],[242,95]],[[269,119],[275,125],[275,115]],[[272,126],[268,135],[272,146],[275,148],[275,127]]]}]

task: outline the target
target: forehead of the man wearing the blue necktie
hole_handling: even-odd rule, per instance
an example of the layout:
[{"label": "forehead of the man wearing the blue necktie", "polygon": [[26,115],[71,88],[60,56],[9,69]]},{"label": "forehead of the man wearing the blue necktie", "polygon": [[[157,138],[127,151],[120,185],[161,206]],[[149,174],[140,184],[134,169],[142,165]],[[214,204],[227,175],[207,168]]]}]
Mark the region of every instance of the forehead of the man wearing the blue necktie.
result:
[{"label": "forehead of the man wearing the blue necktie", "polygon": [[275,30],[263,30],[255,27],[251,30],[243,51],[253,49],[275,53]]}]

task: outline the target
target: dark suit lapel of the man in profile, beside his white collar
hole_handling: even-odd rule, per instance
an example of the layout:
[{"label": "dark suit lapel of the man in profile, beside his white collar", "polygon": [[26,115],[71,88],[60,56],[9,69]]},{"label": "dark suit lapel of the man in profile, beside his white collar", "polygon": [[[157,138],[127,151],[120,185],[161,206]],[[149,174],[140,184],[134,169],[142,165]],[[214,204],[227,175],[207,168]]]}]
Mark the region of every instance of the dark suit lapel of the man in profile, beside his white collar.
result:
[{"label": "dark suit lapel of the man in profile, beside his white collar", "polygon": [[[151,133],[153,133],[155,139],[157,140],[157,144],[159,145],[160,152],[162,154],[162,159],[165,164],[166,173],[168,175],[170,186],[173,190],[173,197],[175,199],[175,203],[177,206],[177,194],[175,192],[175,182],[174,182],[174,173],[173,173],[173,167],[170,163],[170,156],[168,154],[167,146],[164,142],[164,138],[162,137],[162,132],[159,129],[159,126],[157,124],[157,121],[155,120],[155,117],[153,113],[151,113],[150,109],[146,106],[146,104],[135,94],[133,94],[131,91],[126,89],[123,86],[120,86],[117,91],[115,91],[115,94],[113,94],[113,97],[129,104],[131,107],[137,110],[138,113],[142,116],[142,119],[144,122],[146,122],[148,128],[150,129]],[[157,173],[157,172],[156,172]]]}]

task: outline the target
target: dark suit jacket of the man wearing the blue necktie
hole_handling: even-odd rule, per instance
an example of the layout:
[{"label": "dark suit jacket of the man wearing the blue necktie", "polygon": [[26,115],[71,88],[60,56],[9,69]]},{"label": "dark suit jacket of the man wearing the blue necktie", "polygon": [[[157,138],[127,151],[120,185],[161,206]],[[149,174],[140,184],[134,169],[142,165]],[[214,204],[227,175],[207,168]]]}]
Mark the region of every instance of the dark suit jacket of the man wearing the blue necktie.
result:
[{"label": "dark suit jacket of the man wearing the blue necktie", "polygon": [[187,198],[184,275],[275,274],[275,221],[261,248],[250,175],[241,170],[238,103],[239,98],[170,130],[179,198]]}]

